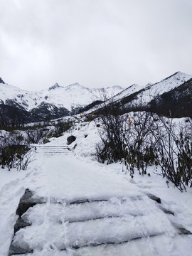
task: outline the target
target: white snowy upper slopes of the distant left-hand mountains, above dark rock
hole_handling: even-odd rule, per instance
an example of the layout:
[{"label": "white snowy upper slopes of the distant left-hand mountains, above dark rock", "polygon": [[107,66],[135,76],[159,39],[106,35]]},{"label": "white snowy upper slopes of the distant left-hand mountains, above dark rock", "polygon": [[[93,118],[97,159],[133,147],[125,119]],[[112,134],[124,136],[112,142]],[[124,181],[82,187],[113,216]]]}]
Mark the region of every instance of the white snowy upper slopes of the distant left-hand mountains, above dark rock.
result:
[{"label": "white snowy upper slopes of the distant left-hand mountains, above dark rock", "polygon": [[[108,87],[106,92],[117,94],[123,88],[119,86]],[[68,86],[60,86],[58,83],[40,92],[22,90],[13,85],[0,83],[0,102],[6,105],[20,105],[25,110],[31,110],[41,105],[42,102],[53,104],[56,107],[85,106],[100,99],[100,89],[90,89],[78,83]],[[11,100],[11,101],[10,101]]]}]

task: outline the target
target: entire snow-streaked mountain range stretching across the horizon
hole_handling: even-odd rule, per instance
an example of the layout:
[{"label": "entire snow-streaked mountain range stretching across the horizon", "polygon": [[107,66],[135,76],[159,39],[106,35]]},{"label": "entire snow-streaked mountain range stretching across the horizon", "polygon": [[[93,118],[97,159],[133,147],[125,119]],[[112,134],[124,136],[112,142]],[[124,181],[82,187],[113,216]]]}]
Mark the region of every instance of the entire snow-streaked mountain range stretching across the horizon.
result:
[{"label": "entire snow-streaked mountain range stretching across the horizon", "polygon": [[[23,122],[55,119],[80,111],[93,112],[101,108],[100,103],[105,96],[112,97],[114,104],[121,102],[126,112],[150,110],[169,115],[171,111],[173,117],[191,116],[191,79],[192,75],[178,71],[160,82],[148,83],[144,87],[134,84],[124,89],[115,85],[104,90],[90,89],[78,82],[68,86],[56,82],[40,92],[22,90],[5,84],[1,79],[0,119],[4,119],[2,115],[9,110],[16,113],[19,119],[22,119],[23,114]],[[7,114],[8,117],[11,122],[10,114]]]}]

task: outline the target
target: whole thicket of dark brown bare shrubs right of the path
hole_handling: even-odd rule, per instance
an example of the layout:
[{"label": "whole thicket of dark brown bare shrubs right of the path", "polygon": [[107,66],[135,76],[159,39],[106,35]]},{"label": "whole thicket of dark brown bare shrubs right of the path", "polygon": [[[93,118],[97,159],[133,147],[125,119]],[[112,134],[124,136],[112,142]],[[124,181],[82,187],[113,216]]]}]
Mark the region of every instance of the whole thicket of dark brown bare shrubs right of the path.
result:
[{"label": "whole thicket of dark brown bare shrubs right of the path", "polygon": [[131,117],[125,112],[121,102],[111,102],[110,107],[104,103],[97,160],[107,164],[121,161],[132,177],[135,169],[144,175],[147,166],[154,164],[180,191],[192,187],[191,119],[182,127],[151,112],[134,112]]}]

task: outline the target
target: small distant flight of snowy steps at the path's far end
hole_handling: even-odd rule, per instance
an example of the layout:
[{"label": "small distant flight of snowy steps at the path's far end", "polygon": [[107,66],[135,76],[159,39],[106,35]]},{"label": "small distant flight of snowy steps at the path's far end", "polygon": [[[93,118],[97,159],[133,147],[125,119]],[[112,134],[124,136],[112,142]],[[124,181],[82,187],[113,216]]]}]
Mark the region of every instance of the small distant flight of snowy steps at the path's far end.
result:
[{"label": "small distant flight of snowy steps at the path's far end", "polygon": [[68,146],[36,145],[34,147],[36,149],[36,154],[46,157],[62,156],[63,154],[68,154],[68,151],[70,150]]}]

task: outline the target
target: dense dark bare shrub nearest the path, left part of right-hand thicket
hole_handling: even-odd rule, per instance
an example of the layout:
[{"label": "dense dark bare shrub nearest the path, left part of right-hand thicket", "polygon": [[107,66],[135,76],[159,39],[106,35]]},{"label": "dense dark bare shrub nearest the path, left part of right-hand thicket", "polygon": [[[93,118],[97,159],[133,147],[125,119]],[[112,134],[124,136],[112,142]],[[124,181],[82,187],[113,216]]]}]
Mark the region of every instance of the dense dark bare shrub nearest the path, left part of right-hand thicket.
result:
[{"label": "dense dark bare shrub nearest the path, left part of right-hand thicket", "polygon": [[104,100],[100,114],[101,142],[96,146],[96,158],[101,162],[107,161],[107,164],[122,161],[131,175],[135,167],[139,174],[144,175],[146,166],[154,161],[149,136],[153,116],[148,112],[135,112],[133,117],[129,117],[125,112],[120,102],[114,102],[113,98],[111,102]]}]

